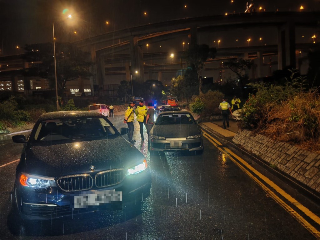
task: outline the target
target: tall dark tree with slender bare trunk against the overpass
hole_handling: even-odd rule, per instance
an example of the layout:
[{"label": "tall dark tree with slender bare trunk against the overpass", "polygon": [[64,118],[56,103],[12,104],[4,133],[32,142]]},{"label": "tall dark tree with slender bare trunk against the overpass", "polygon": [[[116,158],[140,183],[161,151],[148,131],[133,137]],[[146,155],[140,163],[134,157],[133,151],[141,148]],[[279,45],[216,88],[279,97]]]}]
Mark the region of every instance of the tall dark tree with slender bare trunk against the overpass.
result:
[{"label": "tall dark tree with slender bare trunk against the overpass", "polygon": [[204,67],[204,62],[208,58],[215,58],[215,48],[209,48],[206,44],[191,46],[186,52],[187,64],[196,71],[199,84],[199,93],[202,93],[202,75],[201,71]]}]

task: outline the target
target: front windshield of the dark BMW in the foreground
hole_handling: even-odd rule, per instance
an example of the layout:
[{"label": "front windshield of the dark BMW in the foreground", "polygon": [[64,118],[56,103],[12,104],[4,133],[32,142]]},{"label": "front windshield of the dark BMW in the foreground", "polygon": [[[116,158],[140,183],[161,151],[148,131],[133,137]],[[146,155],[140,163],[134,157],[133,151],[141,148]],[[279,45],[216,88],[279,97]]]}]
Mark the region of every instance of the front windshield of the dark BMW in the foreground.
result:
[{"label": "front windshield of the dark BMW in the foreground", "polygon": [[31,141],[56,141],[117,135],[114,126],[103,117],[59,118],[38,122]]}]

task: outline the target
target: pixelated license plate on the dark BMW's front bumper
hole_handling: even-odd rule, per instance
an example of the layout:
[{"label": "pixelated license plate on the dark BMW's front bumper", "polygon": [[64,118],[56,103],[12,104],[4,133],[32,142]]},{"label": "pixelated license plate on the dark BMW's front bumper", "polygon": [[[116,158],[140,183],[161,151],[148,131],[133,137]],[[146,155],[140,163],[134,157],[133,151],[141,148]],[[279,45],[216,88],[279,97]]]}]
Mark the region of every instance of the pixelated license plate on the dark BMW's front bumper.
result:
[{"label": "pixelated license plate on the dark BMW's front bumper", "polygon": [[113,190],[104,191],[81,191],[71,194],[72,209],[88,207],[106,207],[110,205],[120,205],[122,207],[122,192]]}]

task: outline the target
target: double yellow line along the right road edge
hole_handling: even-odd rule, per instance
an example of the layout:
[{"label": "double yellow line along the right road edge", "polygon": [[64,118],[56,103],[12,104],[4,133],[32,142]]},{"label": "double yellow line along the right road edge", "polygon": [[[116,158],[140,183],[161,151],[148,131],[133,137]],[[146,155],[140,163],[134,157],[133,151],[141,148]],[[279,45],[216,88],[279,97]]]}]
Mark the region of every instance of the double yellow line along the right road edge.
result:
[{"label": "double yellow line along the right road edge", "polygon": [[[287,203],[285,203],[281,198],[279,198],[270,188],[273,188],[277,193],[283,196],[286,200],[296,206],[301,212],[306,214],[310,219],[315,221],[318,225],[320,225],[320,218],[313,212],[311,212],[307,207],[300,204],[297,200],[295,200],[292,196],[286,193],[282,188],[276,185],[273,181],[271,181],[268,177],[264,176],[256,169],[254,169],[250,164],[248,164],[244,159],[237,156],[234,152],[232,152],[229,148],[223,147],[223,145],[212,136],[203,132],[203,136],[208,139],[216,148],[218,148],[222,153],[227,155],[231,161],[233,161],[243,172],[245,172],[252,180],[254,180],[269,196],[271,196],[278,204],[280,204],[287,212],[289,212],[296,220],[298,220],[302,226],[307,228],[316,238],[320,239],[320,232],[313,227],[306,219],[300,216],[298,212],[296,212],[292,207],[290,207]],[[254,176],[254,174],[257,177]],[[262,181],[264,181],[267,185],[265,185]]]}]

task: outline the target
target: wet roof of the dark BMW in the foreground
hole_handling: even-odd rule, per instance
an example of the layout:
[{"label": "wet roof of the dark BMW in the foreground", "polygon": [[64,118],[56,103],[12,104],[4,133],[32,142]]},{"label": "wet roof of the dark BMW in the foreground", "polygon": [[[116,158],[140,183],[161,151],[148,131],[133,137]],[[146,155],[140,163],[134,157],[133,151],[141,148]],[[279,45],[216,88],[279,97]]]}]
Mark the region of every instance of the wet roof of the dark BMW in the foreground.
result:
[{"label": "wet roof of the dark BMW in the foreground", "polygon": [[89,111],[59,111],[59,112],[49,112],[42,114],[39,119],[50,120],[55,118],[68,118],[68,117],[103,117],[98,112],[89,112]]}]

